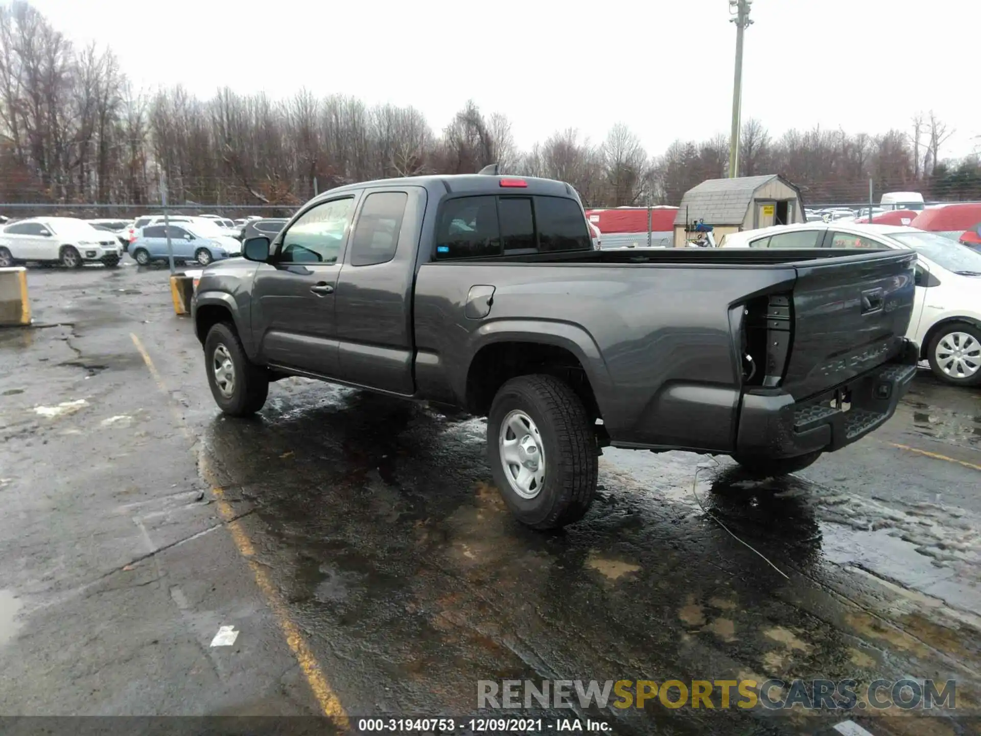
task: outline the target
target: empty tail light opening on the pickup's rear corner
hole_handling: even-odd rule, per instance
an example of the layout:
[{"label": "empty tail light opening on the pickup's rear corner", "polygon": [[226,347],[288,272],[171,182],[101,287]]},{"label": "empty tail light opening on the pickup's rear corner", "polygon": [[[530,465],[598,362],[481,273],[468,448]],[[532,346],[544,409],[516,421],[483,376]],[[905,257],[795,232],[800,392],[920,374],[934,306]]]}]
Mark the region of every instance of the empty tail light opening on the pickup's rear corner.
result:
[{"label": "empty tail light opening on the pickup's rear corner", "polygon": [[747,302],[740,331],[746,386],[780,386],[790,357],[793,325],[794,302],[790,293],[768,294]]}]

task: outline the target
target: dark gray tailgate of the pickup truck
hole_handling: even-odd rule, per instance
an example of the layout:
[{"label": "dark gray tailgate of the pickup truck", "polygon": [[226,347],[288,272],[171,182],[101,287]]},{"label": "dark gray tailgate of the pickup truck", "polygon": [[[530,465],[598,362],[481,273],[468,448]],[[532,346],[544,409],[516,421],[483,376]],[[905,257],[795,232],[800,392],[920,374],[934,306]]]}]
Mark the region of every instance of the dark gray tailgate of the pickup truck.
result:
[{"label": "dark gray tailgate of the pickup truck", "polygon": [[783,381],[798,400],[895,357],[913,309],[908,250],[794,264],[793,340]]}]

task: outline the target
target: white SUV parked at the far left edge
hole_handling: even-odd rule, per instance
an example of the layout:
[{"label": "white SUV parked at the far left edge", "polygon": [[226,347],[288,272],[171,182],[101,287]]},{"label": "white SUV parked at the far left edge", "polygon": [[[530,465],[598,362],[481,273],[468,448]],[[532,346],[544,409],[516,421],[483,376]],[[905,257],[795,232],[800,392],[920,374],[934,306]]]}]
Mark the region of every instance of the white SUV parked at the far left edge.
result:
[{"label": "white SUV parked at the far left edge", "polygon": [[0,267],[31,261],[68,268],[85,263],[116,268],[122,258],[123,246],[116,236],[74,217],[32,217],[0,232]]}]

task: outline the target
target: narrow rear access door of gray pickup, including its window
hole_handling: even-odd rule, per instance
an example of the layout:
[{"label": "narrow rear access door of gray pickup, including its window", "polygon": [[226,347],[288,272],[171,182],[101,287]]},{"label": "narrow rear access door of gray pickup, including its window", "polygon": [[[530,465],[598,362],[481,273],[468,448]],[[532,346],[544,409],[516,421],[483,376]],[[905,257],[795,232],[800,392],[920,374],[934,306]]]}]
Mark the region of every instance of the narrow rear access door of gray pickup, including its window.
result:
[{"label": "narrow rear access door of gray pickup, including its window", "polygon": [[412,287],[421,186],[365,192],[335,295],[340,378],[413,394]]}]

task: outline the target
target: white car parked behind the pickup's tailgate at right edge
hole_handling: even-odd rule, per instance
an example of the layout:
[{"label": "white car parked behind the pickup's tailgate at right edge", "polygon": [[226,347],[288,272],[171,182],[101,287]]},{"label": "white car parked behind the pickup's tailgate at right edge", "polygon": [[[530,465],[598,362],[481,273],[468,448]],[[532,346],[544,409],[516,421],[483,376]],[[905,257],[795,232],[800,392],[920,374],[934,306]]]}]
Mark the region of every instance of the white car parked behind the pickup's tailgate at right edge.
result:
[{"label": "white car parked behind the pickup's tailgate at right edge", "polygon": [[916,228],[855,223],[806,223],[733,233],[722,247],[911,248],[917,253],[916,294],[906,337],[941,381],[981,385],[981,253]]}]

